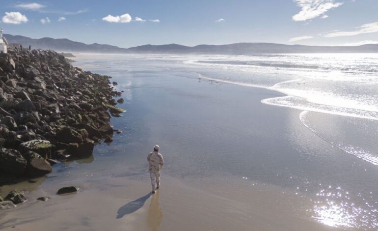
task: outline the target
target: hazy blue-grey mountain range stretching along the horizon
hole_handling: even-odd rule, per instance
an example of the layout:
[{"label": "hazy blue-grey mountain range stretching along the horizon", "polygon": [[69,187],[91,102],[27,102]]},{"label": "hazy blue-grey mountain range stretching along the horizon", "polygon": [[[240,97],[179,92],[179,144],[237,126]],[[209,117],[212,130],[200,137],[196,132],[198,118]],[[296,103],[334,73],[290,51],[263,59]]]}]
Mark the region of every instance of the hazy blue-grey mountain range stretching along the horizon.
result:
[{"label": "hazy blue-grey mountain range stretching along the horizon", "polygon": [[378,53],[378,44],[361,46],[304,46],[277,43],[234,43],[227,45],[198,45],[194,47],[179,44],[143,45],[120,48],[106,44],[85,44],[66,38],[33,39],[20,35],[4,35],[9,43],[21,43],[33,49],[51,49],[58,52],[86,53],[153,53],[153,54],[261,54],[261,53]]}]

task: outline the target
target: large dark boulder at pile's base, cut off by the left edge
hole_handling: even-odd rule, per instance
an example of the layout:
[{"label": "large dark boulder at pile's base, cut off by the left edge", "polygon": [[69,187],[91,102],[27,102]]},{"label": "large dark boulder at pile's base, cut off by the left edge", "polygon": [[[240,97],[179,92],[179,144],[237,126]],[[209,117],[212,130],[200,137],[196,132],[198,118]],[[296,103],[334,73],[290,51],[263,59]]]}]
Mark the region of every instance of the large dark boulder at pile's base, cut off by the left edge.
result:
[{"label": "large dark boulder at pile's base, cut off by the left edge", "polygon": [[0,148],[0,173],[21,175],[25,172],[26,164],[26,159],[19,151]]}]

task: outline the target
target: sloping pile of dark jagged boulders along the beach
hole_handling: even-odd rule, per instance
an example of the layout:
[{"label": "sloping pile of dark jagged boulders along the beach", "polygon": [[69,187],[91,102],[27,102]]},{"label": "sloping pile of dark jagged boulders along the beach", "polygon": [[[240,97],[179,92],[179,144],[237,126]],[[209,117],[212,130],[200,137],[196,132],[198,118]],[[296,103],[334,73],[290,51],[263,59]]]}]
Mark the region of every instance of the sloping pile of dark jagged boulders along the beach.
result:
[{"label": "sloping pile of dark jagged boulders along the beach", "polygon": [[0,185],[50,173],[56,160],[88,157],[111,141],[110,117],[123,110],[110,78],[54,51],[0,54]]}]

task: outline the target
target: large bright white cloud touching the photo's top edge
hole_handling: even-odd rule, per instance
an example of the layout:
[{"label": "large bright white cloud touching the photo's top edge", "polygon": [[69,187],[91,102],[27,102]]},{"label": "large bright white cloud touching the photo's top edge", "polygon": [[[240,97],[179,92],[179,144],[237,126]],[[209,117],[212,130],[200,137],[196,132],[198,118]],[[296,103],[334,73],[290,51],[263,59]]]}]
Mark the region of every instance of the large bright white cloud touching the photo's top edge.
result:
[{"label": "large bright white cloud touching the photo's top edge", "polygon": [[294,15],[294,21],[306,21],[319,17],[332,8],[341,6],[342,2],[335,2],[335,0],[293,0],[301,10]]}]

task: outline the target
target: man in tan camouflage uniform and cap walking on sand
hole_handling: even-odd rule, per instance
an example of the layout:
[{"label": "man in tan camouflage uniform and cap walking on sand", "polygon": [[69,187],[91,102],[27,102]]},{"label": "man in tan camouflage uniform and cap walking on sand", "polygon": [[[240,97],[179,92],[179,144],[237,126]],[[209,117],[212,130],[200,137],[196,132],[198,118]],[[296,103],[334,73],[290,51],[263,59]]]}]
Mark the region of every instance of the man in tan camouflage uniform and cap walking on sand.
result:
[{"label": "man in tan camouflage uniform and cap walking on sand", "polygon": [[[160,169],[164,165],[162,154],[159,153],[159,145],[154,146],[154,151],[148,154],[147,161],[149,164],[148,171],[150,172],[152,193],[159,189],[160,186]],[[156,188],[155,188],[156,184]]]}]

